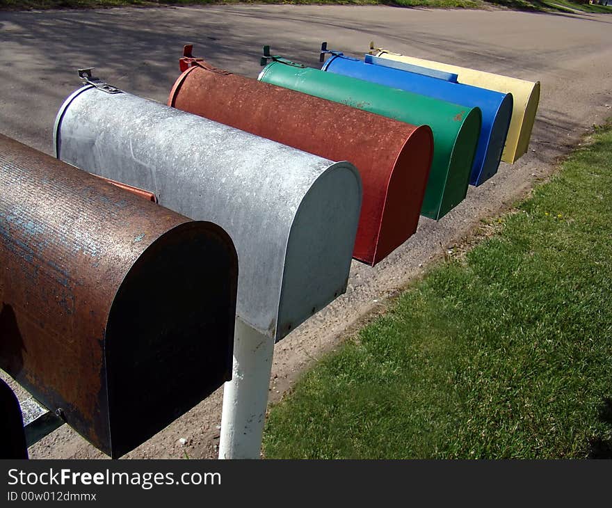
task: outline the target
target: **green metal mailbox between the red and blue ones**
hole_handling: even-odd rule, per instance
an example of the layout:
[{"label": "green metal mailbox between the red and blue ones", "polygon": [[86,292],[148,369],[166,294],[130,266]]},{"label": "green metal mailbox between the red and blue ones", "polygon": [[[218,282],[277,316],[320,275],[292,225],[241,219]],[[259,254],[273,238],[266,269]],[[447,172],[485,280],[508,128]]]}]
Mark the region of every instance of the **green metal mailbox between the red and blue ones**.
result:
[{"label": "green metal mailbox between the red and blue ones", "polygon": [[259,74],[260,81],[414,125],[430,125],[433,161],[421,215],[440,219],[465,198],[481,130],[480,109],[307,68],[270,56],[268,47],[264,47],[264,58],[272,61]]}]

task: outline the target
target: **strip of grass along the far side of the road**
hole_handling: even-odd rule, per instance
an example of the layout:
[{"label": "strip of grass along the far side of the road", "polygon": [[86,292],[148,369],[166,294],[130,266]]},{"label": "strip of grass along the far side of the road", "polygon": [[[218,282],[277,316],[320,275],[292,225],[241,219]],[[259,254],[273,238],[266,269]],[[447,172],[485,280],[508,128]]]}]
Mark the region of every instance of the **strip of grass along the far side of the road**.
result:
[{"label": "strip of grass along the far side of the road", "polygon": [[[612,7],[590,6],[570,0],[0,0],[0,10],[104,8],[119,6],[206,5],[211,3],[298,3],[340,5],[389,5],[428,8],[484,8],[488,5],[517,10],[560,10],[566,7],[593,13],[610,13]],[[554,5],[554,4],[559,5]],[[564,7],[565,6],[565,7]]]}]

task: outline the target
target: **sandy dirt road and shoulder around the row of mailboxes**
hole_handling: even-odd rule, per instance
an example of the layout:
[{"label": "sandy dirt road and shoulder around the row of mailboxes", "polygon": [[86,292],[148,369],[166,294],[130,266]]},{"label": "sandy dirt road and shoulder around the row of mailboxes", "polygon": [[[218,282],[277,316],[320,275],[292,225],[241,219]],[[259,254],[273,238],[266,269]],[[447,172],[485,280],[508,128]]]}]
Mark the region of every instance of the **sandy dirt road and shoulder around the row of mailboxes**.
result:
[{"label": "sandy dirt road and shoulder around the row of mailboxes", "polygon": [[[0,13],[0,132],[51,153],[56,112],[79,86],[76,69],[166,102],[191,42],[196,56],[257,77],[261,46],[316,65],[321,41],[359,56],[369,41],[412,56],[531,81],[542,96],[531,149],[375,268],[353,262],[346,294],[277,344],[275,401],[300,372],[382,310],[428,263],[481,233],[481,219],[526,196],[594,124],[612,116],[612,16],[508,10],[345,6],[213,6]],[[128,454],[129,458],[216,457],[222,390]],[[181,443],[184,439],[186,442]],[[104,458],[67,426],[29,450],[31,458]]]}]

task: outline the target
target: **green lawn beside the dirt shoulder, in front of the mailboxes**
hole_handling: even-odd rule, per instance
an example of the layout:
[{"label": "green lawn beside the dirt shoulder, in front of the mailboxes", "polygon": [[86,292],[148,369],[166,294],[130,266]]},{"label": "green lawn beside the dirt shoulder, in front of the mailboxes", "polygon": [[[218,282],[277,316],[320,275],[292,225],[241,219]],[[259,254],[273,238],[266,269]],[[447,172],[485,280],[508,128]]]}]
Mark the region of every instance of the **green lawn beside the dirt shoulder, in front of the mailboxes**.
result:
[{"label": "green lawn beside the dirt shoulder, in front of the mailboxes", "polygon": [[612,130],[307,372],[268,458],[612,457]]}]

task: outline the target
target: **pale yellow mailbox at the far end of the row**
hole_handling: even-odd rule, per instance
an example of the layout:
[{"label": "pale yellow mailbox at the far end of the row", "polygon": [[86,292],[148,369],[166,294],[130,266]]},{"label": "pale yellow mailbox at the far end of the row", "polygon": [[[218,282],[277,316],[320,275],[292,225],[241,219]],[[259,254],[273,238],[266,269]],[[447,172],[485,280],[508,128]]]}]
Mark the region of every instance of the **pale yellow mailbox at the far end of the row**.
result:
[{"label": "pale yellow mailbox at the far end of the row", "polygon": [[492,72],[391,53],[385,49],[374,49],[373,44],[370,45],[370,48],[373,54],[389,61],[421,65],[444,72],[454,72],[458,75],[459,83],[488,88],[500,93],[511,93],[514,102],[512,119],[510,120],[508,138],[506,138],[506,146],[501,154],[501,160],[508,162],[508,164],[514,164],[527,152],[533,122],[536,121],[538,102],[540,102],[540,81],[525,81],[524,79],[502,76]]}]

